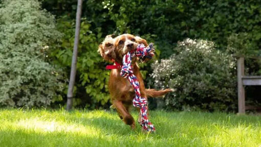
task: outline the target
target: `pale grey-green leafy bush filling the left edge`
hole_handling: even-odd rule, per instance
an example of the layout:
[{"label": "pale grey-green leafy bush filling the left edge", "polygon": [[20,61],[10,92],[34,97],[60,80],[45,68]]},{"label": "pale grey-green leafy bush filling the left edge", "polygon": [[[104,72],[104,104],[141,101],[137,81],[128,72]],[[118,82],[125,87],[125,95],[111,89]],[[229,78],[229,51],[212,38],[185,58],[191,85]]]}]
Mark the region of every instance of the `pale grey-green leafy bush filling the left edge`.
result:
[{"label": "pale grey-green leafy bush filling the left edge", "polygon": [[38,1],[6,0],[0,8],[0,106],[40,107],[61,99],[62,75],[46,53],[61,36]]}]

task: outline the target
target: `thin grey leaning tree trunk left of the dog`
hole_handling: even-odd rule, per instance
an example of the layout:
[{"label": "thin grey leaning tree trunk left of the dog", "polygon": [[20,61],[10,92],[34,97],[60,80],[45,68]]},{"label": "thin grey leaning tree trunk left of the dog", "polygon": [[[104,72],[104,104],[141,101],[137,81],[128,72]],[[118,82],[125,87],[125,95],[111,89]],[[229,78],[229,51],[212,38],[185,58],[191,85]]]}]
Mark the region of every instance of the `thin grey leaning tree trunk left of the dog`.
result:
[{"label": "thin grey leaning tree trunk left of the dog", "polygon": [[80,23],[81,23],[81,4],[82,0],[78,0],[77,13],[76,13],[76,27],[75,27],[75,38],[74,38],[74,47],[73,47],[73,58],[70,74],[70,82],[67,92],[67,110],[71,110],[73,106],[73,87],[75,83],[76,76],[76,66],[77,66],[77,54],[78,54],[78,43],[79,43],[79,34],[80,34]]}]

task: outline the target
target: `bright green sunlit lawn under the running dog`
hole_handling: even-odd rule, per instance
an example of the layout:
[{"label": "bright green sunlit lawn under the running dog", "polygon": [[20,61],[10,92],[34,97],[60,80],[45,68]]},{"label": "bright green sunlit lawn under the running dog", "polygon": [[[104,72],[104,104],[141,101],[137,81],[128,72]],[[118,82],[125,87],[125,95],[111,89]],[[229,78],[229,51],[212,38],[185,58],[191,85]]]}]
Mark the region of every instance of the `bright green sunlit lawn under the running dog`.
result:
[{"label": "bright green sunlit lawn under the running dog", "polygon": [[111,111],[0,109],[0,146],[259,146],[260,118],[150,111],[157,132],[144,134]]}]

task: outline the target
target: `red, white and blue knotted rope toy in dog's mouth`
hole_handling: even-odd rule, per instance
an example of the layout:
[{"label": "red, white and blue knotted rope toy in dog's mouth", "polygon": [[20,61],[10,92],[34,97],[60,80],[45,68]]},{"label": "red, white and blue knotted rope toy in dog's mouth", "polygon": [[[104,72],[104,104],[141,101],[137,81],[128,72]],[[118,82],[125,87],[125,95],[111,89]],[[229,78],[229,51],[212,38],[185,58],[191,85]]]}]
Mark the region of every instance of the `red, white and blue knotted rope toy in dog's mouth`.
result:
[{"label": "red, white and blue knotted rope toy in dog's mouth", "polygon": [[148,132],[154,132],[155,128],[153,124],[148,120],[147,117],[147,105],[148,102],[140,94],[140,84],[137,77],[133,74],[132,57],[139,57],[140,60],[145,60],[145,58],[151,59],[154,56],[154,46],[150,43],[147,47],[144,44],[139,44],[136,50],[132,50],[123,56],[123,66],[121,68],[121,76],[127,78],[130,84],[132,84],[135,90],[135,98],[133,99],[133,106],[140,108],[141,113],[141,126],[144,130]]}]

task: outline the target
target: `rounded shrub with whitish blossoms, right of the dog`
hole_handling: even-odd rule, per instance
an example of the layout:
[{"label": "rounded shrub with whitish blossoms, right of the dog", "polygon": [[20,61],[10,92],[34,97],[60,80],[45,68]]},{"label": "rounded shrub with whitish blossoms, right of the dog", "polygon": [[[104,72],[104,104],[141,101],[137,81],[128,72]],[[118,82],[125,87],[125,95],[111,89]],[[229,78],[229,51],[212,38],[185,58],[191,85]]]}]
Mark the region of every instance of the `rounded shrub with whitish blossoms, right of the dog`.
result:
[{"label": "rounded shrub with whitish blossoms, right of the dog", "polygon": [[169,108],[235,109],[236,73],[231,56],[206,40],[185,39],[175,51],[169,59],[156,62],[151,74],[155,87],[176,89],[165,97]]}]

